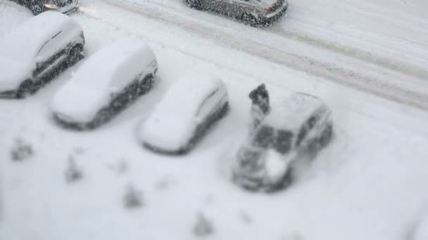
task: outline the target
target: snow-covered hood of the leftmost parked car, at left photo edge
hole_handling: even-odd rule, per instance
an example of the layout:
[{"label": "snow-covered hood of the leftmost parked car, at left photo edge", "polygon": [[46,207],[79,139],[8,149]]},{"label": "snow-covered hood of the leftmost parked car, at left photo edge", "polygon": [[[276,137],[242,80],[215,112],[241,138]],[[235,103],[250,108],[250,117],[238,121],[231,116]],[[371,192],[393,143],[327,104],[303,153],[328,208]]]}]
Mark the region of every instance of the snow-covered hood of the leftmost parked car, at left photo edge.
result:
[{"label": "snow-covered hood of the leftmost parked car, at left photo edge", "polygon": [[0,91],[15,90],[20,83],[31,77],[31,72],[30,64],[0,57]]}]

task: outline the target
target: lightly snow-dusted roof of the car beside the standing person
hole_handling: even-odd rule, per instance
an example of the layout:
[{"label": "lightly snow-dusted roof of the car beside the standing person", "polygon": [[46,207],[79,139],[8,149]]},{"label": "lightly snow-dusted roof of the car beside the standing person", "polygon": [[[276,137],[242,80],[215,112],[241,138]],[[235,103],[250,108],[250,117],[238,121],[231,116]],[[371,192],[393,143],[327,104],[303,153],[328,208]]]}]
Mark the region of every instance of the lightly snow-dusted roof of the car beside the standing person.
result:
[{"label": "lightly snow-dusted roof of the car beside the standing person", "polygon": [[263,123],[275,128],[298,131],[311,114],[325,107],[324,102],[314,95],[294,93],[279,105],[273,106]]}]

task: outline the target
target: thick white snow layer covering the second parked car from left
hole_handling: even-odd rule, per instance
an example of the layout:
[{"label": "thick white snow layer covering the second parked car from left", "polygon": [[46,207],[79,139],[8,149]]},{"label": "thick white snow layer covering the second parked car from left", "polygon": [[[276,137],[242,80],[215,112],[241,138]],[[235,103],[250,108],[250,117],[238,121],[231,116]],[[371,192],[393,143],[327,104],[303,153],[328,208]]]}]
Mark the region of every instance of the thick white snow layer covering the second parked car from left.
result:
[{"label": "thick white snow layer covering the second parked car from left", "polygon": [[136,76],[153,72],[156,60],[143,41],[122,39],[94,53],[54,95],[51,109],[58,116],[82,123],[92,121]]}]

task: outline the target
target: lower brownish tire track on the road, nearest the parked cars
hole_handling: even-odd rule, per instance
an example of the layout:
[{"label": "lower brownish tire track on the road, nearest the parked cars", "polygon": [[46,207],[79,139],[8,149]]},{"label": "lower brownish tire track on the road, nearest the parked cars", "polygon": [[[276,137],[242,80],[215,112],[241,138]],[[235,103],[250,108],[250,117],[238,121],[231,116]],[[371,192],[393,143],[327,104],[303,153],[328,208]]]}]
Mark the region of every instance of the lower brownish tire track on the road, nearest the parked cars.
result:
[{"label": "lower brownish tire track on the road, nearest the parked cars", "polygon": [[287,53],[277,48],[265,46],[252,39],[237,39],[233,34],[216,29],[215,27],[201,25],[199,22],[184,18],[177,18],[175,13],[159,11],[156,8],[141,6],[140,4],[134,4],[127,0],[104,1],[112,6],[122,8],[125,11],[136,13],[137,15],[144,15],[146,18],[179,27],[205,39],[215,39],[215,41],[219,43],[225,44],[238,51],[248,53],[249,55],[264,58],[270,62],[290,67],[291,69],[307,72],[338,84],[428,111],[428,95],[425,93],[402,88],[396,84],[377,79],[374,76],[356,72],[351,68],[338,67],[338,65],[334,63],[321,62],[305,55]]}]

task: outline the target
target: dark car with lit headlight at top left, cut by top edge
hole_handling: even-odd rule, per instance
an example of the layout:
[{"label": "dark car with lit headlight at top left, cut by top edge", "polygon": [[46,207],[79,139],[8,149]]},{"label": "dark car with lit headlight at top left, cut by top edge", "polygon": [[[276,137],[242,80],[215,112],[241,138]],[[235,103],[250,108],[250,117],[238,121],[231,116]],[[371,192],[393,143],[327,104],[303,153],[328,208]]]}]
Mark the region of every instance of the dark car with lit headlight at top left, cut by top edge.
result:
[{"label": "dark car with lit headlight at top left, cut by top edge", "polygon": [[12,0],[17,4],[30,9],[34,15],[44,11],[57,11],[59,13],[69,14],[77,11],[79,7],[78,0]]}]

